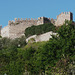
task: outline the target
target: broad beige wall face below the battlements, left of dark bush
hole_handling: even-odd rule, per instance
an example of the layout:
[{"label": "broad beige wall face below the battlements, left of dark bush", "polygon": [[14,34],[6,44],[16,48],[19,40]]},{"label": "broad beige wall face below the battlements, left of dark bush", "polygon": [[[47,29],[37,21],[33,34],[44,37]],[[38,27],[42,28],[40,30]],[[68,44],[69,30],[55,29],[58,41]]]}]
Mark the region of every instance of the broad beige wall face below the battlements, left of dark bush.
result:
[{"label": "broad beige wall face below the battlements, left of dark bush", "polygon": [[26,28],[36,24],[37,24],[37,21],[30,21],[30,22],[26,21],[26,22],[19,23],[17,25],[11,24],[9,27],[9,36],[12,39],[21,37],[22,35],[24,35]]}]

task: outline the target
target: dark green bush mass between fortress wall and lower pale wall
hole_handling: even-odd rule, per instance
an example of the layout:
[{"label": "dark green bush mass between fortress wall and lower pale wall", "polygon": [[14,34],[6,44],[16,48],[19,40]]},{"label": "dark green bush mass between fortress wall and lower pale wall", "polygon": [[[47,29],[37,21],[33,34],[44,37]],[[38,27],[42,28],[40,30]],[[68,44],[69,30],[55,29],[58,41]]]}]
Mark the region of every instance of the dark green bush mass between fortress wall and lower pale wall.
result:
[{"label": "dark green bush mass between fortress wall and lower pale wall", "polygon": [[55,31],[55,26],[51,23],[42,24],[38,26],[31,26],[25,29],[25,36],[39,35],[49,31]]}]

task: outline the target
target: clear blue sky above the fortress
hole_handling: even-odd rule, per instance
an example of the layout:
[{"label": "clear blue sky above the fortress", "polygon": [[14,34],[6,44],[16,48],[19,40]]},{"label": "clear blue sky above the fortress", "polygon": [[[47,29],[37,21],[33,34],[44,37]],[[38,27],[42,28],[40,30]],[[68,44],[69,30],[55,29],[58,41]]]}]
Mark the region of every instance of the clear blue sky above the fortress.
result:
[{"label": "clear blue sky above the fortress", "polygon": [[68,11],[74,17],[75,0],[0,0],[0,25],[4,27],[14,18],[45,16],[56,19],[61,12]]}]

